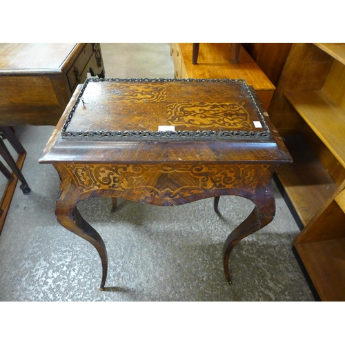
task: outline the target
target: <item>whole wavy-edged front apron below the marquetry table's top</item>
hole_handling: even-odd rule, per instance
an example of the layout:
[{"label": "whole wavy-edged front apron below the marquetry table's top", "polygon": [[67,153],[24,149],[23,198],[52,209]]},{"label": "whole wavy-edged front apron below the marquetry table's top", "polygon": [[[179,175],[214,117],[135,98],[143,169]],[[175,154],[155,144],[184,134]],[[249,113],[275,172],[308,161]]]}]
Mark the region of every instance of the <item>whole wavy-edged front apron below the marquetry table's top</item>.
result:
[{"label": "whole wavy-edged front apron below the marquetry table's top", "polygon": [[55,164],[61,181],[75,186],[77,201],[90,196],[121,197],[175,206],[239,195],[252,199],[269,184],[271,164]]}]

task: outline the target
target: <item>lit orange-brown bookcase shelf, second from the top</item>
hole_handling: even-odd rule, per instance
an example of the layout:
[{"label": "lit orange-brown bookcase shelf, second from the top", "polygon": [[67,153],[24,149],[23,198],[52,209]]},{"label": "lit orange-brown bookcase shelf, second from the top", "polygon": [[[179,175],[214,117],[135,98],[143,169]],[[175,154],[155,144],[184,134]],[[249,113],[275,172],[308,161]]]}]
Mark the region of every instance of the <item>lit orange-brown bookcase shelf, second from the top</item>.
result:
[{"label": "lit orange-brown bookcase shelf, second from the top", "polygon": [[345,167],[345,112],[321,90],[284,92],[284,96]]}]

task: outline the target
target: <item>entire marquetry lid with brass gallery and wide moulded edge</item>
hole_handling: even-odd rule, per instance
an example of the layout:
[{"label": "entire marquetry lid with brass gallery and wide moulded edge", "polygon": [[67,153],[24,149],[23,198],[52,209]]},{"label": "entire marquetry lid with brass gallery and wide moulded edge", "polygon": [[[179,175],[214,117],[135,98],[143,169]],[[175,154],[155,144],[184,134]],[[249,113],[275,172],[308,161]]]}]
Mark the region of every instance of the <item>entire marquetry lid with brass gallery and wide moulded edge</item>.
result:
[{"label": "entire marquetry lid with brass gallery and wide moulded edge", "polygon": [[233,79],[88,79],[40,161],[105,150],[117,162],[290,161],[255,90]]}]

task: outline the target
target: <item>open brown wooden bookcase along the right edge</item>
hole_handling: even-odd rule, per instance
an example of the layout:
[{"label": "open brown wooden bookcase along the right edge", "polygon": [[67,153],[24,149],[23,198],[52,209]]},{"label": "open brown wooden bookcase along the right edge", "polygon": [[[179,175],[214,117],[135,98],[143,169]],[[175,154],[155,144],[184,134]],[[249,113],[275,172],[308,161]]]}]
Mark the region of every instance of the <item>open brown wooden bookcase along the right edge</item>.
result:
[{"label": "open brown wooden bookcase along the right edge", "polygon": [[345,43],[293,43],[269,108],[293,156],[277,169],[304,228],[295,249],[323,301],[345,300]]}]

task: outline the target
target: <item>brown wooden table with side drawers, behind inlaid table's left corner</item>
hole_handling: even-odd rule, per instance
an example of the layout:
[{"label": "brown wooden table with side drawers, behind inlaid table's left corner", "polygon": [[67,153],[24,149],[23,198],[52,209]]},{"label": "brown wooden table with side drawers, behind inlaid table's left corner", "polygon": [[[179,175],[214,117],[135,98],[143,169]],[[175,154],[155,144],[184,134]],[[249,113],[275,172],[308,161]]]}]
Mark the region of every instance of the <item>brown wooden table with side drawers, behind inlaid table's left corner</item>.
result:
[{"label": "brown wooden table with side drawers, behind inlaid table's left corner", "polygon": [[0,126],[55,126],[87,72],[104,77],[99,43],[0,43]]}]

